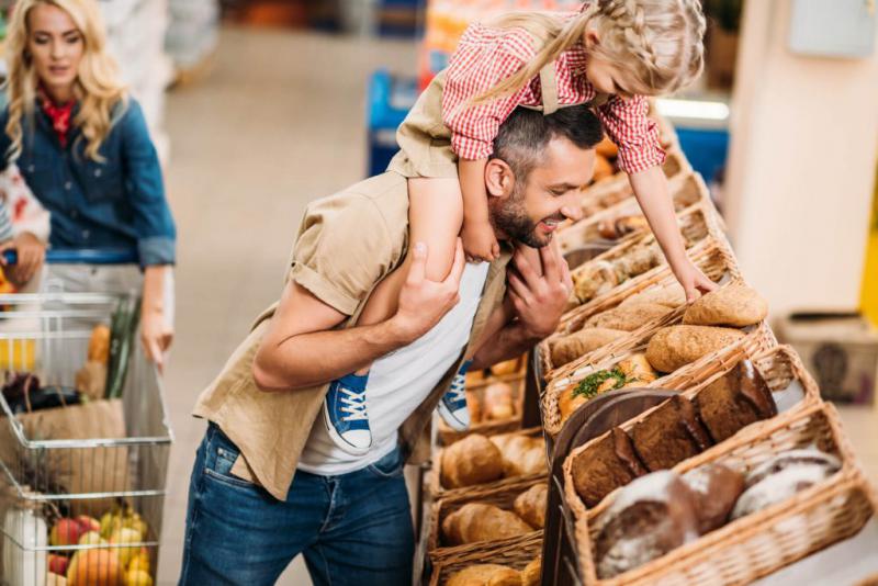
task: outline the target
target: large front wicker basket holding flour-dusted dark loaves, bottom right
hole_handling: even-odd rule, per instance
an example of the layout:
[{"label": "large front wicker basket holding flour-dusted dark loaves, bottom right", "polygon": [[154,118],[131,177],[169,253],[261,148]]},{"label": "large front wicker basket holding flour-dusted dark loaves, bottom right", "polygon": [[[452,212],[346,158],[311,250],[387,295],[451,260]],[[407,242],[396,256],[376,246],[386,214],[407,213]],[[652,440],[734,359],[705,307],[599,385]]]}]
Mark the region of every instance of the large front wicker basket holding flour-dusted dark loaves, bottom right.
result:
[{"label": "large front wicker basket holding flour-dusted dark loaves, bottom right", "polygon": [[795,497],[736,519],[695,542],[641,567],[599,581],[593,529],[618,492],[586,509],[573,487],[571,466],[587,446],[564,463],[566,504],[576,519],[576,550],[587,584],[748,584],[859,531],[875,512],[871,488],[863,480],[832,405],[815,404],[757,424],[674,467],[679,473],[721,462],[750,471],[786,450],[815,444],[842,460],[842,470]]}]

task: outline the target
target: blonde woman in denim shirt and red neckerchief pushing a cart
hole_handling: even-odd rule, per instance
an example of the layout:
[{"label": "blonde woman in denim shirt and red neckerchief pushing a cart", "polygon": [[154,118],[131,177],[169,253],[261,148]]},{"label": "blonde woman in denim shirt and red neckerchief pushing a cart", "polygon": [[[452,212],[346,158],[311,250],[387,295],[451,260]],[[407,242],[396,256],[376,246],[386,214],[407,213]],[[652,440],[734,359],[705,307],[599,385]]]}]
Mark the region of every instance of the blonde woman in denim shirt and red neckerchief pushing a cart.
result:
[{"label": "blonde woman in denim shirt and red neckerchief pushing a cart", "polygon": [[143,112],[119,81],[94,0],[21,0],[9,26],[0,151],[52,214],[57,249],[128,264],[50,266],[66,291],[140,289],[140,338],[159,368],[172,337],[176,230]]}]

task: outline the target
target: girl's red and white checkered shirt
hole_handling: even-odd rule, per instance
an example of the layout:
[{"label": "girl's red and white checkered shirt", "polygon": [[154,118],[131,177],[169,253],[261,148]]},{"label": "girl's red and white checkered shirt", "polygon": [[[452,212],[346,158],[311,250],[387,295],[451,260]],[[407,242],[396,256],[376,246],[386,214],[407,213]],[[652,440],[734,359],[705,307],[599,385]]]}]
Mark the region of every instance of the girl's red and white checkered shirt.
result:
[{"label": "girl's red and white checkered shirt", "polygon": [[[570,16],[576,14],[571,12]],[[476,95],[518,71],[536,55],[533,41],[524,29],[471,25],[460,40],[446,74],[442,121],[451,131],[451,148],[462,159],[485,159],[493,153],[499,125],[519,105],[542,105],[539,76],[506,98],[470,105]],[[597,91],[585,77],[588,56],[582,44],[555,59],[559,106],[594,100]],[[644,171],[665,160],[655,121],[646,116],[642,95],[628,100],[614,95],[596,109],[610,139],[619,147],[619,168],[628,173]]]}]

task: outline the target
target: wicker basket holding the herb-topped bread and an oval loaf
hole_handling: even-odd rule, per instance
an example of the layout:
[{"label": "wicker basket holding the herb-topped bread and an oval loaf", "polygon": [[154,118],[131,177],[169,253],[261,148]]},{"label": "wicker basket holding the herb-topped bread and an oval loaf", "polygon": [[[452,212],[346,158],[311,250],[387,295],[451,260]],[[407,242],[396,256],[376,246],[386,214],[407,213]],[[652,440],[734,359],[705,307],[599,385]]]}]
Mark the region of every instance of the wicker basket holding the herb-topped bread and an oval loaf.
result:
[{"label": "wicker basket holding the herb-topped bread and an oval loaf", "polygon": [[[677,309],[672,314],[678,319],[683,316],[683,311]],[[560,377],[553,379],[549,382],[545,393],[542,397],[543,409],[543,426],[545,431],[552,437],[556,436],[563,426],[561,421],[561,410],[559,409],[558,399],[561,393],[571,391],[576,384],[593,372],[611,369],[626,358],[630,358],[637,352],[645,350],[649,339],[655,331],[642,336],[640,339],[629,339],[627,346],[608,345],[605,347],[606,358],[600,362],[595,362],[589,365],[576,365],[578,370],[564,370],[564,374]],[[676,371],[666,374],[655,381],[644,385],[648,388],[675,388],[686,390],[694,387],[703,381],[710,380],[717,373],[725,372],[738,363],[741,353],[747,356],[758,356],[764,351],[770,350],[777,346],[777,339],[767,324],[762,323],[742,339],[727,346],[716,352],[710,352],[695,362],[686,364]],[[732,362],[734,360],[734,362]],[[573,362],[572,364],[576,364]],[[566,368],[565,368],[566,369]]]}]

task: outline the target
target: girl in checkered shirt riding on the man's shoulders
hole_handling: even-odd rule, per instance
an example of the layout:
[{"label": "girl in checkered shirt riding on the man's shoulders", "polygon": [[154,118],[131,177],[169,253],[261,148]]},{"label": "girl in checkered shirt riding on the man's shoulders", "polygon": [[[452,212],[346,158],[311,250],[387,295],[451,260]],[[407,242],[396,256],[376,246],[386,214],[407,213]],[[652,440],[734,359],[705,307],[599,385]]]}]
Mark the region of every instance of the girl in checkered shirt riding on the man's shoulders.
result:
[{"label": "girl in checkered shirt riding on the man's shoulders", "polygon": [[[550,114],[592,103],[619,147],[619,167],[629,174],[687,298],[714,289],[686,256],[661,169],[665,155],[644,98],[674,92],[700,75],[703,33],[699,0],[595,0],[577,12],[513,13],[470,26],[448,69],[399,127],[401,153],[390,166],[409,178],[410,241],[428,245],[428,278],[441,280],[448,273],[459,232],[469,259],[498,258],[484,171],[504,120],[518,106]],[[361,324],[393,315],[404,274],[396,271],[378,288]],[[454,429],[469,426],[468,367],[469,361],[439,404]],[[364,368],[335,381],[327,395],[329,433],[352,453],[364,453],[371,444],[368,376]]]}]

